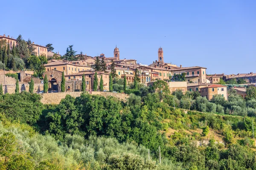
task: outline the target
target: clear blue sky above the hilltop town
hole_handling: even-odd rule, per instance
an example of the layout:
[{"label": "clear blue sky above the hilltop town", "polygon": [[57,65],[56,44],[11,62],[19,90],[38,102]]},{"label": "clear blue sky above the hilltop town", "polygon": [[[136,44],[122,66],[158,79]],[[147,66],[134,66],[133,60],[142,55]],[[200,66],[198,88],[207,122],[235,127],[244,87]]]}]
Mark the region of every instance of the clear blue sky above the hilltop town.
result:
[{"label": "clear blue sky above the hilltop town", "polygon": [[165,62],[207,68],[208,74],[256,72],[254,0],[6,0],[0,34],[37,44],[68,45],[96,56],[150,64],[161,46]]}]

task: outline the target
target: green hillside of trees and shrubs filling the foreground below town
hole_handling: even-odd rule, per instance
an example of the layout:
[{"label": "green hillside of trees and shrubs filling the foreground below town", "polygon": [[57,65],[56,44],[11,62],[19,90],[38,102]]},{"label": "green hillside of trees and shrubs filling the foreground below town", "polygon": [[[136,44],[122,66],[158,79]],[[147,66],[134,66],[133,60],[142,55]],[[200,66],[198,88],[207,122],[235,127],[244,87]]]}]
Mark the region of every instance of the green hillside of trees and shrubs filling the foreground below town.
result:
[{"label": "green hillside of trees and shrubs filling the foreground below town", "polygon": [[256,170],[254,117],[174,109],[181,99],[147,92],[123,103],[84,93],[42,105],[36,94],[2,95],[1,167]]}]

